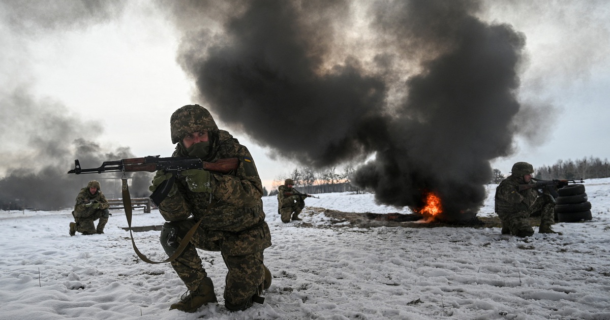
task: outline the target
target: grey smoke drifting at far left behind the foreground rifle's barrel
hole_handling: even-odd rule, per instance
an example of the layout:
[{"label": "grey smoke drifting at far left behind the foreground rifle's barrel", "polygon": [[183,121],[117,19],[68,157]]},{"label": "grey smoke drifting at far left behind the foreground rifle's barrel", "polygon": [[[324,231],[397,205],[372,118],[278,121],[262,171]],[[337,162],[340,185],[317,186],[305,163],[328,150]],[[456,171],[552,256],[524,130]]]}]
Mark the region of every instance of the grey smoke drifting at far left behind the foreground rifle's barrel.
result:
[{"label": "grey smoke drifting at far left behind the foreground rifle's barrel", "polygon": [[[49,99],[36,101],[27,90],[0,97],[5,141],[0,179],[2,210],[60,210],[74,206],[77,194],[89,180],[99,180],[107,197],[120,197],[120,172],[114,174],[68,175],[74,159],[83,168],[98,167],[105,160],[134,157],[129,148],[109,151],[93,138],[102,128],[95,122],[77,118],[65,106]],[[12,144],[9,146],[9,144]],[[135,172],[131,177],[132,196],[148,196],[151,174]]]}]

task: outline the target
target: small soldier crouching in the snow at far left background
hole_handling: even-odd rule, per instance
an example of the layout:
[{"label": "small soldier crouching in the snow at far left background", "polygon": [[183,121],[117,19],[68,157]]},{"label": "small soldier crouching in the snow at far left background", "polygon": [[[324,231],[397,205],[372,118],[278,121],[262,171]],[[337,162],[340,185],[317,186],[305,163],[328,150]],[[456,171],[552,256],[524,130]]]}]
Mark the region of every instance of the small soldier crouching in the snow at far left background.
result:
[{"label": "small soldier crouching in the snow at far left background", "polygon": [[[70,222],[70,235],[75,235],[77,231],[84,235],[104,233],[104,226],[110,216],[109,207],[98,180],[91,180],[76,197],[76,205],[72,212],[75,222]],[[93,221],[97,219],[99,221],[96,228]]]}]

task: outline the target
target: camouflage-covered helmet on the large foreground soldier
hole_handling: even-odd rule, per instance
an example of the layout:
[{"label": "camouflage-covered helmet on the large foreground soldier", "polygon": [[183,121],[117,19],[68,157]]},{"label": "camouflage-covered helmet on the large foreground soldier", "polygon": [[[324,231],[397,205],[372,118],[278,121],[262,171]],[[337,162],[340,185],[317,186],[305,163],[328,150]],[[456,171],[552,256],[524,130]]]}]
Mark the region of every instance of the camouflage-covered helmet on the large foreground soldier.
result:
[{"label": "camouflage-covered helmet on the large foreground soldier", "polygon": [[170,129],[171,143],[176,144],[188,133],[217,131],[218,126],[206,108],[198,104],[190,104],[179,108],[171,115]]}]

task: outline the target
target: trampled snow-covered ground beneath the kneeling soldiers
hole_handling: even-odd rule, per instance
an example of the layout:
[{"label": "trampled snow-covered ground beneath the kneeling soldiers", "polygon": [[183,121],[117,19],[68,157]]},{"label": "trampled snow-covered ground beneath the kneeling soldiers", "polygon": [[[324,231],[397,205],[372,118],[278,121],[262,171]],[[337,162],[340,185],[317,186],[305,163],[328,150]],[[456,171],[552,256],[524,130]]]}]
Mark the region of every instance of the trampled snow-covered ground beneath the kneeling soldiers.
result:
[{"label": "trampled snow-covered ground beneath the kneeling soldiers", "polygon": [[[264,197],[273,283],[264,305],[239,312],[223,306],[220,253],[204,251],[220,304],[169,311],[185,286],[168,264],[137,258],[118,210],[105,234],[89,236],[68,235],[71,210],[0,212],[0,319],[610,319],[610,179],[585,185],[591,221],[529,238],[498,228],[331,226],[311,210],[282,224],[276,198]],[[488,188],[479,216],[493,215],[495,185]],[[410,213],[376,205],[371,194],[318,196],[307,206]],[[133,218],[134,226],[162,223],[155,210]],[[134,236],[149,258],[166,258],[158,231]]]}]

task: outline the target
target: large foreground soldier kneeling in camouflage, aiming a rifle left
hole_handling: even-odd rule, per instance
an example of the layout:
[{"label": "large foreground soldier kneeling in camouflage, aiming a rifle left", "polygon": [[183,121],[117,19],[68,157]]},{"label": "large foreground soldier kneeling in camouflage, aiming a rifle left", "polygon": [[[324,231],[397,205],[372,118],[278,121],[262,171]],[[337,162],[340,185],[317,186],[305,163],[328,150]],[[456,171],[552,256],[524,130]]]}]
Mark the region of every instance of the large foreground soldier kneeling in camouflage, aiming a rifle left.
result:
[{"label": "large foreground soldier kneeling in camouflage, aiming a rifle left", "polygon": [[[210,302],[218,302],[212,279],[201,265],[196,248],[220,251],[228,268],[224,305],[228,310],[245,310],[271,285],[271,273],[263,263],[263,251],[271,246],[271,234],[262,206],[263,187],[248,149],[229,132],[219,130],[212,115],[201,105],[185,105],[171,115],[173,157],[196,156],[206,162],[239,158],[237,169],[228,174],[188,169],[176,177],[168,196],[159,204],[166,221],[161,245],[173,255],[188,230],[201,221],[188,246],[171,261],[187,293],[171,305],[195,312]],[[156,190],[171,173],[157,171],[149,188]]]}]

